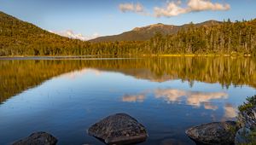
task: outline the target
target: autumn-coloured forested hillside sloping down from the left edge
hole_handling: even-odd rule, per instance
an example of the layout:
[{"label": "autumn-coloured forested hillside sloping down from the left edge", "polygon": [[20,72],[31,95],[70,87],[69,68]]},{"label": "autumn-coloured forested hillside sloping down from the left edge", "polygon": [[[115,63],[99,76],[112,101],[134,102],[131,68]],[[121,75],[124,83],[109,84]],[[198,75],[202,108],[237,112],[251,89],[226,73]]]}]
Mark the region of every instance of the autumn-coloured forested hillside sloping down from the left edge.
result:
[{"label": "autumn-coloured forested hillside sloping down from the left edge", "polygon": [[[61,49],[82,47],[84,42],[61,37],[0,11],[1,55],[55,55]],[[44,51],[44,52],[43,52]]]}]

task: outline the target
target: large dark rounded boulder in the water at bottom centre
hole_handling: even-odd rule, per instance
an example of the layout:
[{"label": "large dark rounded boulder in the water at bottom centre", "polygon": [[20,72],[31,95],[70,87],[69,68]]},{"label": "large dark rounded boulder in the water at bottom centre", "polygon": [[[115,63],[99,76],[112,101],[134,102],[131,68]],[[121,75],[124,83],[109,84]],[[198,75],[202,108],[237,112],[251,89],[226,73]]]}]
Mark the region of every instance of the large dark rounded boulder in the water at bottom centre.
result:
[{"label": "large dark rounded boulder in the water at bottom centre", "polygon": [[107,144],[131,144],[143,142],[148,133],[143,125],[125,113],[117,113],[102,119],[88,130],[90,136],[95,136]]}]

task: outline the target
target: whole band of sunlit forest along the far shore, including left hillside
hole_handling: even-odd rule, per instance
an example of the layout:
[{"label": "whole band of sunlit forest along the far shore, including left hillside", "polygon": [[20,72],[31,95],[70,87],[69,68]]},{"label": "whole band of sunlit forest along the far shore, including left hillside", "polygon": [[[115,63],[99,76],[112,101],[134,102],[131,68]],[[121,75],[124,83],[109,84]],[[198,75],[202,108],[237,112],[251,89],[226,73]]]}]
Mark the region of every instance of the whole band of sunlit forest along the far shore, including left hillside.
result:
[{"label": "whole band of sunlit forest along the far shore, including left hillside", "polygon": [[256,20],[195,26],[141,42],[63,38],[0,12],[0,55],[256,54]]}]

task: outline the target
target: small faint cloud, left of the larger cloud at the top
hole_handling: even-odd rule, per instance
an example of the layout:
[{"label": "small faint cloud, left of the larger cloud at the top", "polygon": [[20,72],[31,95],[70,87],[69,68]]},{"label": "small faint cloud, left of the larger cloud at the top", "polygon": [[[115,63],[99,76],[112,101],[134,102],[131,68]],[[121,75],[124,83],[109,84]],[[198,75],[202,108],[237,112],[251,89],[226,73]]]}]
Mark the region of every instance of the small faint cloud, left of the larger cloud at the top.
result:
[{"label": "small faint cloud, left of the larger cloud at the top", "polygon": [[119,4],[119,9],[123,13],[125,12],[135,12],[135,13],[143,13],[144,8],[141,3],[121,3]]}]

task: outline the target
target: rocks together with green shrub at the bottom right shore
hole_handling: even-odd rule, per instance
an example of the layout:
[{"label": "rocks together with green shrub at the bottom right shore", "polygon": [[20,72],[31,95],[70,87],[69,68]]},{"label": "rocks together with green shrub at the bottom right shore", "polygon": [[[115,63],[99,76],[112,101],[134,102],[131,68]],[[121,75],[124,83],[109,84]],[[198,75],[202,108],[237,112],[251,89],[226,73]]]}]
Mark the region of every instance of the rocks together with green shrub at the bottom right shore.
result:
[{"label": "rocks together with green shrub at the bottom right shore", "polygon": [[256,144],[256,96],[239,107],[237,121],[214,122],[189,128],[186,134],[199,144]]}]

